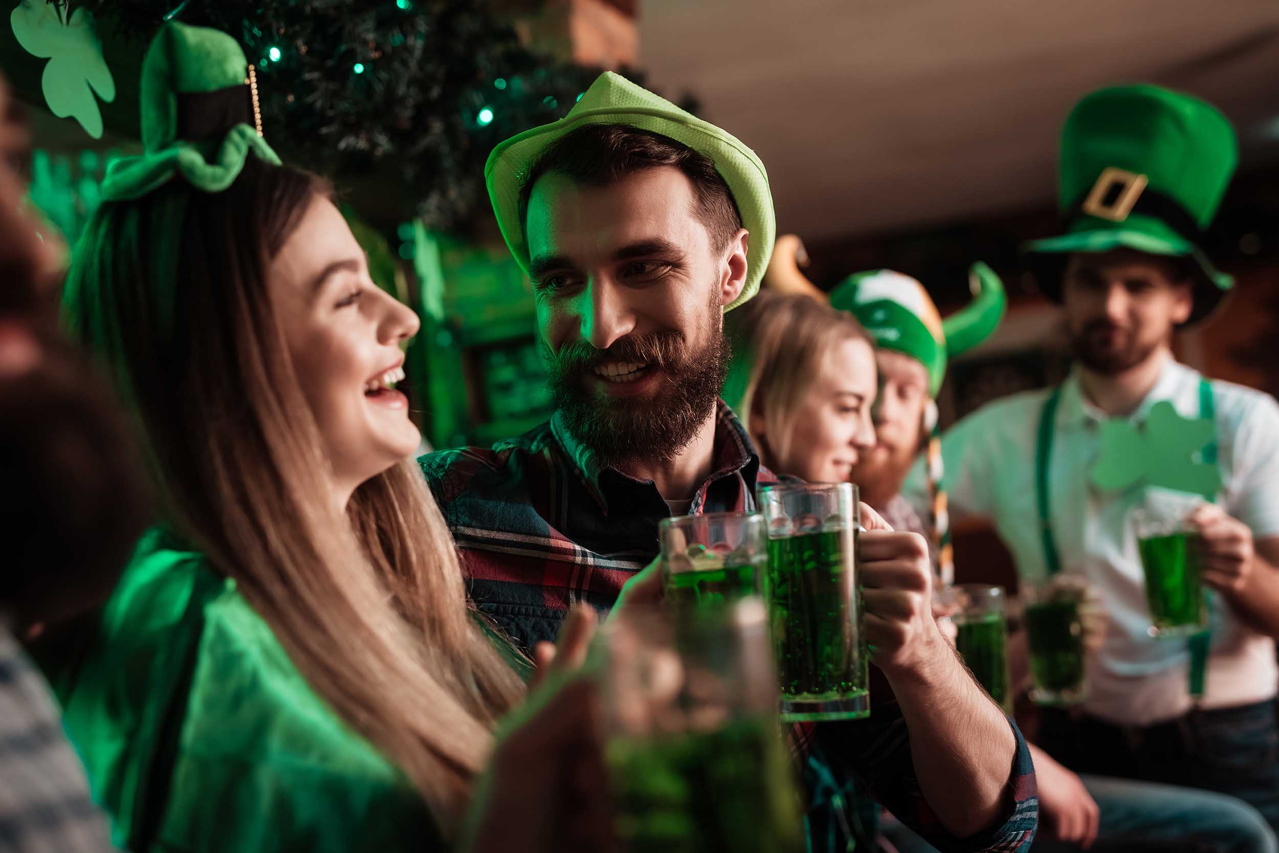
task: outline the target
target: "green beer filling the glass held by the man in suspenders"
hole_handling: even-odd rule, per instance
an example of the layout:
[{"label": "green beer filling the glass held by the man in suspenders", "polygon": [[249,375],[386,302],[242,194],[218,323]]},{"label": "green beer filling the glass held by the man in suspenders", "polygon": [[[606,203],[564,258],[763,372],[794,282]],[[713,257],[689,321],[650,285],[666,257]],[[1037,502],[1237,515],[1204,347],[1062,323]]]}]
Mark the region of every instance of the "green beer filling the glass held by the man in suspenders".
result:
[{"label": "green beer filling the glass held by the man in suspenders", "polygon": [[1146,574],[1146,604],[1155,636],[1198,633],[1207,622],[1192,533],[1178,531],[1137,540]]}]

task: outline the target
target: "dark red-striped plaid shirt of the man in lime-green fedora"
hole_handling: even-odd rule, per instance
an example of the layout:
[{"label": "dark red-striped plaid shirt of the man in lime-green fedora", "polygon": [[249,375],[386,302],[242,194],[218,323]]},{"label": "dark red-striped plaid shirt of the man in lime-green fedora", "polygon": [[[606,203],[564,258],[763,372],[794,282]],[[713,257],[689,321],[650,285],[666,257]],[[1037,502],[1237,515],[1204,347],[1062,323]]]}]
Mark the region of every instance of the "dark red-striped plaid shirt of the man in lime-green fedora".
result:
[{"label": "dark red-striped plaid shirt of the man in lime-green fedora", "polygon": [[[657,522],[670,515],[652,481],[600,463],[556,413],[518,439],[427,454],[420,460],[462,554],[476,606],[524,650],[554,642],[568,609],[606,611],[622,586],[657,556]],[[712,473],[689,513],[749,512],[755,490],[778,482],[733,412],[715,414]],[[872,668],[872,673],[877,670]],[[938,849],[1014,853],[1035,834],[1037,799],[1030,752],[1017,726],[1003,821],[969,839],[945,833],[920,792],[900,708],[888,682],[872,682],[868,720],[794,726],[792,746],[808,794],[812,850],[868,840],[868,792]]]}]

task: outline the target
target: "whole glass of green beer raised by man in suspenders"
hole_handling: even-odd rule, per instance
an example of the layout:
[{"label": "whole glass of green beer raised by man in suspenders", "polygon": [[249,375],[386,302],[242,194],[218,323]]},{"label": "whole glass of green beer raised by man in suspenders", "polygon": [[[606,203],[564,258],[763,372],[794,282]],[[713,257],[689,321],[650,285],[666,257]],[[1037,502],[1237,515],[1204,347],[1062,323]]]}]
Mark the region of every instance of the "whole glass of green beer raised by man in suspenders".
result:
[{"label": "whole glass of green beer raised by man in suspenders", "polygon": [[1207,627],[1207,604],[1200,583],[1189,515],[1197,503],[1152,501],[1132,513],[1137,551],[1146,575],[1151,637],[1189,637]]}]

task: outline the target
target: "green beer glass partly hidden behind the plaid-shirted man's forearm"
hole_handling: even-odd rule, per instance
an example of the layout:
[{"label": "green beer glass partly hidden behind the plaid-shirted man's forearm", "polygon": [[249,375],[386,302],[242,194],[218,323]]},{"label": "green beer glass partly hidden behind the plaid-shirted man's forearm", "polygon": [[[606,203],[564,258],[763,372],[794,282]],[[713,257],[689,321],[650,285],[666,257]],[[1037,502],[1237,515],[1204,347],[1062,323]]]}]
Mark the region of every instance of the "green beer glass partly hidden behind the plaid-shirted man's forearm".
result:
[{"label": "green beer glass partly hidden behind the plaid-shirted man's forearm", "polygon": [[957,583],[943,593],[955,613],[955,648],[990,698],[1012,714],[1013,692],[1008,674],[1008,622],[1004,587]]}]

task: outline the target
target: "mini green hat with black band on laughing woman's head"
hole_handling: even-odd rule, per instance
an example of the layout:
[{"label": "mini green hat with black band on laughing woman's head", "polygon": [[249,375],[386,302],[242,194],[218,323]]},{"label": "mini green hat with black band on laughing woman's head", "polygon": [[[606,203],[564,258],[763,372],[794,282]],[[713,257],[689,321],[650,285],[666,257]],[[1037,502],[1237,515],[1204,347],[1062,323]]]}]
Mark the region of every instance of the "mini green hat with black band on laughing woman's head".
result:
[{"label": "mini green hat with black band on laughing woman's head", "polygon": [[139,101],[143,153],[111,164],[104,201],[141,198],[174,176],[223,192],[249,155],[280,165],[262,138],[257,75],[224,32],[166,23],[142,60]]}]

